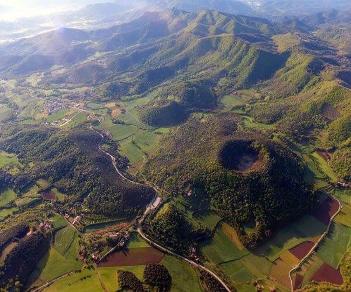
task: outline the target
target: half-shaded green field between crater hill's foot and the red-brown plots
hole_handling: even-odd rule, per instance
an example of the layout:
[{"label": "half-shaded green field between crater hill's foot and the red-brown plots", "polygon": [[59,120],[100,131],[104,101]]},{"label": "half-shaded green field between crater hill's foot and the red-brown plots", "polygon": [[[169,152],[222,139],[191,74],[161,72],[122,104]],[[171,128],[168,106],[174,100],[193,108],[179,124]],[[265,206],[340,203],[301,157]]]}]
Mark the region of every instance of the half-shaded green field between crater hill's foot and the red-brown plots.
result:
[{"label": "half-shaded green field between crater hill's foot and the red-brown plots", "polygon": [[268,257],[272,262],[276,260],[284,251],[302,243],[320,237],[326,230],[326,226],[311,215],[279,230],[265,244],[256,250],[257,254]]}]

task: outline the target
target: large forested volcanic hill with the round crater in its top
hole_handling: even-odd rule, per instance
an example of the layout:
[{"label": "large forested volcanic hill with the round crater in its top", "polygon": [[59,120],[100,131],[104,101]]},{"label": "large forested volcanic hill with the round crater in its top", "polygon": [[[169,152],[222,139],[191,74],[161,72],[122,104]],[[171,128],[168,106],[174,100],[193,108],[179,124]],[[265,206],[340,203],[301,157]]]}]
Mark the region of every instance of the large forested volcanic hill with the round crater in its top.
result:
[{"label": "large forested volcanic hill with the round crater in its top", "polygon": [[[210,198],[212,208],[252,248],[307,212],[317,196],[304,182],[303,164],[293,152],[262,134],[237,130],[229,118],[230,114],[190,118],[144,164],[144,175],[174,195],[192,190],[188,200],[196,202],[194,208]],[[238,165],[248,168],[238,170]],[[158,216],[154,220],[162,230]],[[255,232],[247,234],[243,226],[249,222]],[[165,232],[168,238],[163,240],[173,233],[177,231]]]}]

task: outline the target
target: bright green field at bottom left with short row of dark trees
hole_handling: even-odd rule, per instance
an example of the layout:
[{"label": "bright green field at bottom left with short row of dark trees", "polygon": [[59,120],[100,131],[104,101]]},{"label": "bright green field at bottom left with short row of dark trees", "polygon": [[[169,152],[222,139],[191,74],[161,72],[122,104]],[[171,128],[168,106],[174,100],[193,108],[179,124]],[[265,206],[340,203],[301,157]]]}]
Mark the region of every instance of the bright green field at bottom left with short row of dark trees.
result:
[{"label": "bright green field at bottom left with short row of dark trees", "polygon": [[81,272],[72,273],[66,276],[43,291],[48,292],[61,292],[61,291],[85,291],[85,292],[98,292],[104,291],[100,285],[99,276],[94,269],[85,269]]}]

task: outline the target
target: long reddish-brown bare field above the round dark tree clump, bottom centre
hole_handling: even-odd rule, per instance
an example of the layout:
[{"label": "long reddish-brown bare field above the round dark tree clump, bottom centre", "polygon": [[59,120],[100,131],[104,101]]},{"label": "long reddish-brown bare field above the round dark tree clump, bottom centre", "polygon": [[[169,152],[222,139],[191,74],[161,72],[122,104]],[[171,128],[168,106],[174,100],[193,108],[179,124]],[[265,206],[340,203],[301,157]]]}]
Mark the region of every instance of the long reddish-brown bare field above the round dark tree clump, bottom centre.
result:
[{"label": "long reddish-brown bare field above the round dark tree clump, bottom centre", "polygon": [[159,263],[165,254],[153,247],[138,247],[114,252],[101,260],[98,267],[139,266],[148,263]]}]

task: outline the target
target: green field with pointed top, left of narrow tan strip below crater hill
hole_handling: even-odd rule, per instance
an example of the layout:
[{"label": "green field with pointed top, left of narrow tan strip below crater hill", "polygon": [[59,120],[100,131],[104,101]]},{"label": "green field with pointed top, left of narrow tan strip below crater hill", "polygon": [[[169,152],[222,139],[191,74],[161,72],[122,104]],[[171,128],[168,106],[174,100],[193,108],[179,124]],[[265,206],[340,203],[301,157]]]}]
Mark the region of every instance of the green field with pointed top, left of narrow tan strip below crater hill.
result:
[{"label": "green field with pointed top, left of narrow tan strip below crater hill", "polygon": [[200,243],[201,252],[208,260],[215,264],[238,259],[249,252],[246,249],[239,250],[238,247],[226,236],[218,226],[213,238]]}]

